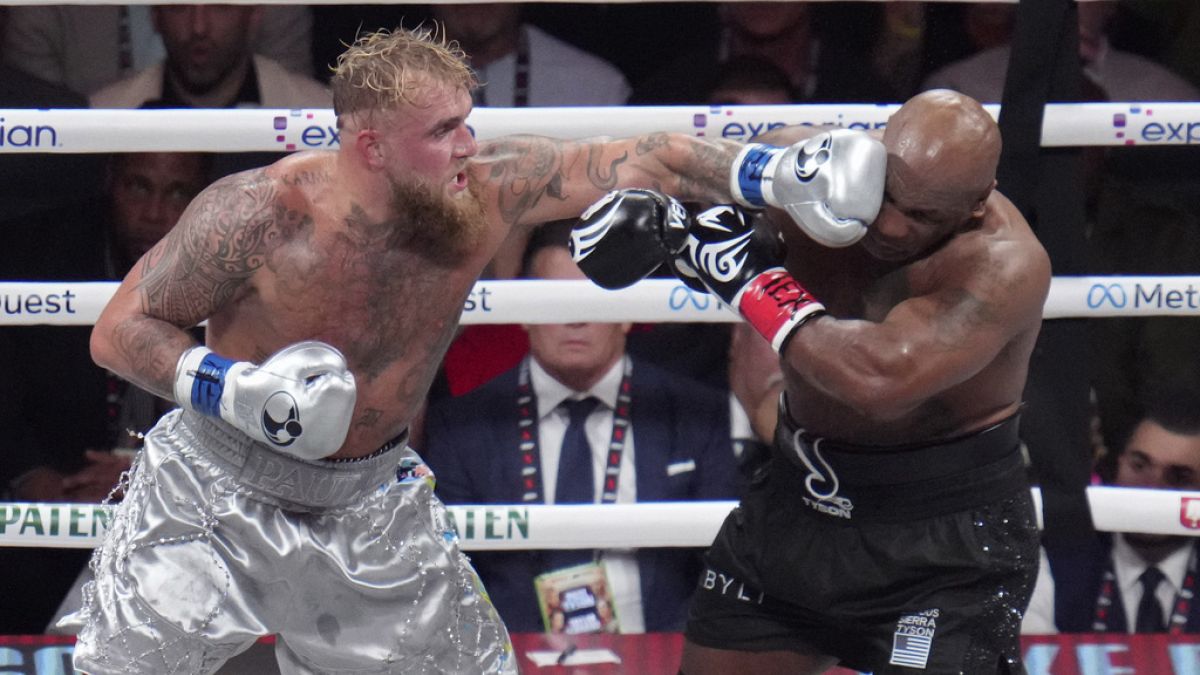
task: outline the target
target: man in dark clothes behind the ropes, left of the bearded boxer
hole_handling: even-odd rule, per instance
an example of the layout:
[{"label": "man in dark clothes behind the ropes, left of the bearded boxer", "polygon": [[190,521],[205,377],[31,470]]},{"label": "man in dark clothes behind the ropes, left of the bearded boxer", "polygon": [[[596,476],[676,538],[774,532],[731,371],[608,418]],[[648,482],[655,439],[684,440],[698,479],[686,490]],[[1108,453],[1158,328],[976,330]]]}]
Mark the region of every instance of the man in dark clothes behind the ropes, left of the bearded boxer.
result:
[{"label": "man in dark clothes behind the ropes, left of the bearded boxer", "polygon": [[[4,223],[6,279],[116,280],[209,180],[209,156],[115,155],[104,197]],[[4,498],[98,502],[166,402],[96,368],[90,327],[0,328]],[[113,452],[120,450],[120,452]],[[0,633],[42,633],[89,551],[0,549]]]}]

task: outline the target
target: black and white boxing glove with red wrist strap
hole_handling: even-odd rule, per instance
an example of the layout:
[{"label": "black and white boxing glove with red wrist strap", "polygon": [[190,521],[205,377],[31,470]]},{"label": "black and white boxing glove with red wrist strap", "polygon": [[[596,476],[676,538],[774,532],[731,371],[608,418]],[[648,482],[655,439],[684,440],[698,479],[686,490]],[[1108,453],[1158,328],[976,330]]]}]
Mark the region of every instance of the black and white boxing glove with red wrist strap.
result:
[{"label": "black and white boxing glove with red wrist strap", "polygon": [[738,207],[713,207],[691,219],[679,258],[680,268],[736,309],[776,352],[804,322],[824,312],[784,269],[778,238],[756,229]]}]

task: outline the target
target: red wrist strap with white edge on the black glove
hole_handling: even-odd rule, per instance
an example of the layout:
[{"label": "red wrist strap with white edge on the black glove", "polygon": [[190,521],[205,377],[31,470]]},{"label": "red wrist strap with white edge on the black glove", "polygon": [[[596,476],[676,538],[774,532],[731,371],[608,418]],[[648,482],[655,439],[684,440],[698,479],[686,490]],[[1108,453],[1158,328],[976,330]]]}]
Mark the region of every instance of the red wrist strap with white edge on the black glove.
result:
[{"label": "red wrist strap with white edge on the black glove", "polygon": [[824,313],[818,303],[784,268],[772,268],[754,277],[733,298],[733,306],[776,352],[808,319]]}]

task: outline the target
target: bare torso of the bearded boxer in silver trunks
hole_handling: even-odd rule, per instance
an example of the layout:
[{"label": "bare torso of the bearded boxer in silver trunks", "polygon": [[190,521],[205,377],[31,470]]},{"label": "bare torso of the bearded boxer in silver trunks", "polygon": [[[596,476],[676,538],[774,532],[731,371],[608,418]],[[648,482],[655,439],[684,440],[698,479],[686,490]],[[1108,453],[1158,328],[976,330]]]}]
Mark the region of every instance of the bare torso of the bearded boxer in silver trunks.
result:
[{"label": "bare torso of the bearded boxer in silver trunks", "polygon": [[326,195],[319,163],[307,166],[311,173],[304,165],[282,166],[290,178],[275,177],[278,222],[256,244],[262,264],[209,318],[208,344],[256,363],[300,340],[341,350],[358,400],[334,456],[370,454],[403,431],[424,404],[493,238],[451,267],[432,264],[390,245],[386,231],[347,227],[350,209]]}]

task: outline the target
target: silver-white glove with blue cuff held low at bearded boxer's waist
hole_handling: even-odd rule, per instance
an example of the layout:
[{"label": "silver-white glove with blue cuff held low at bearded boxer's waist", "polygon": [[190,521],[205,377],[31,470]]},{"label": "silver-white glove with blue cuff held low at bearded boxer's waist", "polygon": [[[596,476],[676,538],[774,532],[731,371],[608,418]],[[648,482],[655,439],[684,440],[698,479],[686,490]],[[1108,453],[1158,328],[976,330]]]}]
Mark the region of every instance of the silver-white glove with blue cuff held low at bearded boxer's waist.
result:
[{"label": "silver-white glove with blue cuff held low at bearded boxer's waist", "polygon": [[175,366],[179,405],[220,417],[254,441],[307,460],[342,447],[356,398],[346,357],[324,342],[296,342],[262,365],[197,346]]}]

